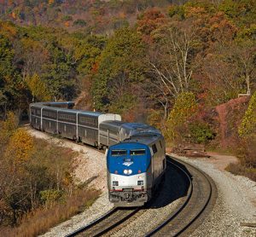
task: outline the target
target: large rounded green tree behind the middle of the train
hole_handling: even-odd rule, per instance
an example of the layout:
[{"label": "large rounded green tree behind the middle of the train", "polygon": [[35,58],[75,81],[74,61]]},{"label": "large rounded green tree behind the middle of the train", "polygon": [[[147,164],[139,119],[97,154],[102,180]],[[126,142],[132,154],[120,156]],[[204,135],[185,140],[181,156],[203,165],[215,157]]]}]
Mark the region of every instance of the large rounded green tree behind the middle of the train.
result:
[{"label": "large rounded green tree behind the middle of the train", "polygon": [[137,32],[128,27],[115,32],[102,52],[94,76],[96,109],[107,111],[116,98],[131,94],[132,84],[143,80],[143,55],[143,42]]}]

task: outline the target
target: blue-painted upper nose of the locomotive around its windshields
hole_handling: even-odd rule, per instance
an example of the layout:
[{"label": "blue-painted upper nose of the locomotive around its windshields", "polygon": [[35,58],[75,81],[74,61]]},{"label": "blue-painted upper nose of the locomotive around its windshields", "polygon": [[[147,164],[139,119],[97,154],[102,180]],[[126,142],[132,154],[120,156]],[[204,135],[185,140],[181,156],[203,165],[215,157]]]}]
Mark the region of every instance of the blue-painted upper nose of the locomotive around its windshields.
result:
[{"label": "blue-painted upper nose of the locomotive around its windshields", "polygon": [[[144,154],[133,155],[132,151],[145,151]],[[118,153],[118,151],[126,151]],[[113,155],[113,153],[115,153]],[[133,176],[148,170],[151,162],[149,147],[142,143],[121,142],[109,147],[107,154],[108,171],[122,176]],[[131,170],[131,174],[125,174],[124,170]]]}]

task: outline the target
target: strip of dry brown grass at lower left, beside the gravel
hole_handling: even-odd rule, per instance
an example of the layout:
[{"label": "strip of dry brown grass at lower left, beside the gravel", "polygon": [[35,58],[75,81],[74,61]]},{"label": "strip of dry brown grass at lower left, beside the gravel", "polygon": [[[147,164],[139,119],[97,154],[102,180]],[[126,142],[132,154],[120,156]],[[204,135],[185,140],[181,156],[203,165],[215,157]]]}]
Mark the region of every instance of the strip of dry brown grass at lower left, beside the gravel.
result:
[{"label": "strip of dry brown grass at lower left, beside the gravel", "polygon": [[18,227],[4,228],[3,236],[29,237],[44,234],[49,228],[64,222],[73,215],[88,208],[99,196],[100,191],[78,189],[65,203],[55,203],[50,207],[29,212]]}]

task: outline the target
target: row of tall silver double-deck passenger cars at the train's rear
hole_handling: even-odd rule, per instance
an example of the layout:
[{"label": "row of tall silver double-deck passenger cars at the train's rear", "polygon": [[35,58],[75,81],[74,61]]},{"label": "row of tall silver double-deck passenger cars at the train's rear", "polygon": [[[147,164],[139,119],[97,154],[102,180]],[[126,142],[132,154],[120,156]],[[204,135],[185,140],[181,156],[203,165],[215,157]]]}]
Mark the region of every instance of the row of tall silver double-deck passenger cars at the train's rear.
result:
[{"label": "row of tall silver double-deck passenger cars at the train's rear", "polygon": [[[63,108],[67,107],[67,108]],[[106,120],[121,120],[119,114],[68,109],[73,102],[47,102],[30,105],[32,127],[52,134],[84,142],[96,147],[108,146],[99,142],[99,125]]]}]

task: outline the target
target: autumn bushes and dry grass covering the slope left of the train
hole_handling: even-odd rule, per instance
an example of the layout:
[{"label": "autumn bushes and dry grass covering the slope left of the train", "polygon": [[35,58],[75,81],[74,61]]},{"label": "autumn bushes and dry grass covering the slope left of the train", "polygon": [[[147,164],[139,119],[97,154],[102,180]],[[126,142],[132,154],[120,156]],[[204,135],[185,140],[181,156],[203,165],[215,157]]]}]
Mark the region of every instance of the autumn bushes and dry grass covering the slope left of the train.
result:
[{"label": "autumn bushes and dry grass covering the slope left of the train", "polygon": [[30,136],[13,113],[0,122],[0,232],[37,236],[83,211],[100,194],[77,186],[78,153]]}]

